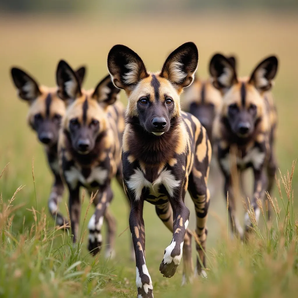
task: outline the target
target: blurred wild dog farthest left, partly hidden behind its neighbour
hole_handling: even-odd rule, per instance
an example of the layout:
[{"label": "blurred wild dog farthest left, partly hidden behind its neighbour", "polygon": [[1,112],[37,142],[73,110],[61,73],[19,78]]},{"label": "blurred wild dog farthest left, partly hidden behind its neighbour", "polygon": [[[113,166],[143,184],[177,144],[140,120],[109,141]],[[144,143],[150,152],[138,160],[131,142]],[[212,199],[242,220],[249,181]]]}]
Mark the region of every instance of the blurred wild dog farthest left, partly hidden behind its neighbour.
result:
[{"label": "blurred wild dog farthest left, partly hidden behind its neighbour", "polygon": [[[81,83],[85,72],[84,66],[76,71]],[[65,114],[65,104],[58,97],[57,88],[40,86],[23,70],[13,67],[11,76],[15,87],[18,89],[18,96],[29,104],[27,122],[36,132],[38,140],[44,145],[49,167],[54,175],[54,184],[48,201],[49,211],[56,224],[68,226],[68,220],[58,210],[58,203],[61,201],[64,187],[58,166],[57,144],[61,119]]]}]

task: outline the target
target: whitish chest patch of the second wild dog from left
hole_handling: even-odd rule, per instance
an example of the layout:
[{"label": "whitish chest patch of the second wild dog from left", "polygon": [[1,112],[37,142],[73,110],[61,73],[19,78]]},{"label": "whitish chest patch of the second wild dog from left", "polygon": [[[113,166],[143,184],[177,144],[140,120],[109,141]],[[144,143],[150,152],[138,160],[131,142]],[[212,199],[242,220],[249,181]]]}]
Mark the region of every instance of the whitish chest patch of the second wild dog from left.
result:
[{"label": "whitish chest patch of the second wild dog from left", "polygon": [[86,188],[92,188],[97,185],[104,185],[108,178],[108,170],[97,166],[90,169],[79,170],[75,166],[71,166],[69,170],[64,171],[67,183],[72,189],[76,188],[78,183]]}]

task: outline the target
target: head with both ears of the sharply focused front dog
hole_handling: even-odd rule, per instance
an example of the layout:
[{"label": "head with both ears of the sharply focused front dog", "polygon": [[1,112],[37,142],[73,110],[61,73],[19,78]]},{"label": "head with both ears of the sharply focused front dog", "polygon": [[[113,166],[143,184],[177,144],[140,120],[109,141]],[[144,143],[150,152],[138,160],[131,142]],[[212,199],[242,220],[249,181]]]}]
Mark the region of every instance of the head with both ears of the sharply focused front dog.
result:
[{"label": "head with both ears of the sharply focused front dog", "polygon": [[128,97],[127,119],[145,132],[161,136],[180,116],[180,94],[193,82],[198,65],[198,49],[188,42],[165,60],[162,70],[147,71],[133,50],[116,45],[108,54],[108,70],[114,85]]}]

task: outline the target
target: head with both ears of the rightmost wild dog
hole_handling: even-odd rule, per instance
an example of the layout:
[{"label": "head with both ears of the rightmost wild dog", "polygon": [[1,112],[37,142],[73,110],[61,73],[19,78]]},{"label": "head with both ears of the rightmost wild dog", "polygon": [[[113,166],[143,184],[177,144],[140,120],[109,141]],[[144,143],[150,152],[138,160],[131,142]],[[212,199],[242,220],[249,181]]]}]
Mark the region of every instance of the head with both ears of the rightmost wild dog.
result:
[{"label": "head with both ears of the rightmost wild dog", "polygon": [[277,73],[278,60],[270,56],[261,61],[248,79],[237,77],[235,65],[221,54],[213,56],[210,75],[213,86],[221,91],[221,117],[227,119],[231,131],[238,137],[253,134],[257,120],[265,113],[263,94],[271,89]]}]

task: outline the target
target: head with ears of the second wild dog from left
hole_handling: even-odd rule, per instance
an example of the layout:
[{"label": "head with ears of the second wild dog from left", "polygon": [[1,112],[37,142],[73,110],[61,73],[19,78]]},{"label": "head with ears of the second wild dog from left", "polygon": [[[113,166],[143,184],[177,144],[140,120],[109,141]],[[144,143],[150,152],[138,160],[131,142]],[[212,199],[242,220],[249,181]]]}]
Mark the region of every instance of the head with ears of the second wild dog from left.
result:
[{"label": "head with ears of the second wild dog from left", "polygon": [[107,130],[106,109],[117,100],[120,90],[113,85],[110,75],[104,77],[95,89],[82,90],[75,71],[64,60],[58,64],[56,79],[58,94],[67,103],[63,130],[67,132],[73,150],[88,154]]}]

